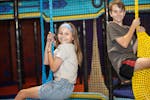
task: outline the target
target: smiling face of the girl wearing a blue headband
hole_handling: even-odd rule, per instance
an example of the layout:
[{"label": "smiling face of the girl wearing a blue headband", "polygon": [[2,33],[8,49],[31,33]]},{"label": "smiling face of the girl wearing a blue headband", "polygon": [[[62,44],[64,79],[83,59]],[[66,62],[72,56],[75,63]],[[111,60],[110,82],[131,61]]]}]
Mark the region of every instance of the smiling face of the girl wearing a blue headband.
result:
[{"label": "smiling face of the girl wearing a blue headband", "polygon": [[58,41],[62,43],[72,43],[74,40],[72,32],[66,27],[60,27],[58,32]]}]

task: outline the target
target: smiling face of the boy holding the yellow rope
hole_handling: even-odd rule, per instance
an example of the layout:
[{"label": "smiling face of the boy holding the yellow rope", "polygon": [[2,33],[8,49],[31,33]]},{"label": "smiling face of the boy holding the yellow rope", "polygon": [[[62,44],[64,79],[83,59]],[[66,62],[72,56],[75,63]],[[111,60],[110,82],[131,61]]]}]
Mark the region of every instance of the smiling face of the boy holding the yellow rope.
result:
[{"label": "smiling face of the boy holding the yellow rope", "polygon": [[117,5],[113,5],[112,11],[110,12],[110,16],[113,18],[113,21],[117,23],[122,23],[125,13],[126,12],[119,8]]}]

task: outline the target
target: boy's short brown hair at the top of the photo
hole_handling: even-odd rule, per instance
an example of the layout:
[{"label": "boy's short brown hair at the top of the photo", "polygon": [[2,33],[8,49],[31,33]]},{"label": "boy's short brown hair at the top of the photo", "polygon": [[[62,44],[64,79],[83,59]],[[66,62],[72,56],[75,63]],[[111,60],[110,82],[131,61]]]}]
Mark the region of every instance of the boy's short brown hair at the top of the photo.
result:
[{"label": "boy's short brown hair at the top of the photo", "polygon": [[117,5],[120,9],[125,11],[125,5],[121,0],[113,0],[112,2],[110,2],[110,4],[109,4],[109,11],[110,12],[112,12],[112,6],[113,5]]}]

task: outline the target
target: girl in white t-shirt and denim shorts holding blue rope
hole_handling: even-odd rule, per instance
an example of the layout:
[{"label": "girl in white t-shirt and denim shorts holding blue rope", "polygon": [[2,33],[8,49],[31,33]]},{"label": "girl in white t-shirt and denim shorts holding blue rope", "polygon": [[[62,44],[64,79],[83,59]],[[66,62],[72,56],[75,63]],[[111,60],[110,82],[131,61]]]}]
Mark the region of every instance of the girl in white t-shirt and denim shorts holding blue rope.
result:
[{"label": "girl in white t-shirt and denim shorts holding blue rope", "polygon": [[71,23],[63,23],[58,29],[57,47],[54,56],[51,52],[51,44],[54,37],[47,35],[48,62],[54,73],[54,80],[41,86],[20,90],[15,100],[25,98],[37,98],[42,100],[63,100],[68,98],[76,83],[78,65],[81,66],[82,53],[79,45],[78,34]]}]

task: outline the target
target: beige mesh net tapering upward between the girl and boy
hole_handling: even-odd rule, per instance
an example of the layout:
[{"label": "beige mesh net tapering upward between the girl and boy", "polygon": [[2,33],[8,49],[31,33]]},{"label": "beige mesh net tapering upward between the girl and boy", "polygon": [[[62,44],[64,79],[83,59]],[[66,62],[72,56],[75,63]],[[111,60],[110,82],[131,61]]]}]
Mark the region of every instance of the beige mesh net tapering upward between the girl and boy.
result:
[{"label": "beige mesh net tapering upward between the girl and boy", "polygon": [[100,57],[98,51],[98,39],[97,39],[97,29],[96,20],[93,22],[93,54],[92,54],[92,68],[89,80],[89,91],[90,92],[100,92],[108,96],[108,90],[104,84],[104,78],[102,76]]}]

